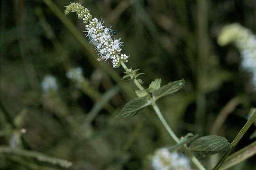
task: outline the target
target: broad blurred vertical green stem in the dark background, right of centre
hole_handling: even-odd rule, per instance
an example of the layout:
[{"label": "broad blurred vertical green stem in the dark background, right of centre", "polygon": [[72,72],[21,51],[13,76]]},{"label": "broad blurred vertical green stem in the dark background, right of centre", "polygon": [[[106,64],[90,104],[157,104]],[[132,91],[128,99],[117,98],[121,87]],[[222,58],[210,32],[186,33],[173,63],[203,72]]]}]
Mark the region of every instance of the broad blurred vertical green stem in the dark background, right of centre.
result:
[{"label": "broad blurred vertical green stem in the dark background, right of centre", "polygon": [[[207,70],[210,70],[210,52],[208,38],[208,1],[197,0],[197,34],[198,34],[198,66],[197,67],[197,99],[196,99],[196,124],[206,125],[206,97],[205,82],[207,81]],[[204,128],[199,128],[198,133],[203,134]]]}]

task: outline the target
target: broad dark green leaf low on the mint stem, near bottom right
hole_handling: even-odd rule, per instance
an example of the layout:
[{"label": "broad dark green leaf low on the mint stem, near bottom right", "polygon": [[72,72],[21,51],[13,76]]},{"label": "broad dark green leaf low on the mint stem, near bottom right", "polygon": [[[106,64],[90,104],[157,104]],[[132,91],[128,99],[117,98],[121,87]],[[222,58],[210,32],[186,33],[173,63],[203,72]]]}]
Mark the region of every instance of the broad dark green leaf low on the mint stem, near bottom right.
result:
[{"label": "broad dark green leaf low on the mint stem, near bottom right", "polygon": [[230,143],[222,136],[203,136],[193,141],[189,149],[198,158],[212,154],[223,153],[230,149]]}]

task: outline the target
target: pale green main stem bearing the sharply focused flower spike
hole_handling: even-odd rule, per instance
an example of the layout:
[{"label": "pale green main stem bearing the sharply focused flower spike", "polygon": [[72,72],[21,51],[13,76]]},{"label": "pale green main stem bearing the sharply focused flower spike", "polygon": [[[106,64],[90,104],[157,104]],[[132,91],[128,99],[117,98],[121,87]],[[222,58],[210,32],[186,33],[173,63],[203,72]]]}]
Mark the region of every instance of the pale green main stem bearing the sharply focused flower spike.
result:
[{"label": "pale green main stem bearing the sharply focused flower spike", "polygon": [[[127,68],[125,63],[121,62],[121,65],[127,73],[130,72],[130,70]],[[132,77],[132,76],[130,76],[130,77],[134,80],[133,82],[135,83],[135,85],[138,87],[139,90],[145,90],[143,88],[143,86],[140,85],[140,83],[137,81],[137,79],[135,77]],[[181,142],[180,139],[174,134],[174,131],[171,129],[171,127],[166,122],[164,116],[162,115],[162,113],[159,110],[155,101],[152,101],[151,105],[152,105],[153,109],[155,110],[155,113],[157,114],[158,118],[160,119],[160,121],[164,125],[165,129],[168,131],[169,135],[174,139],[174,141],[176,143],[180,143]],[[185,149],[186,153],[189,155],[192,162],[194,162],[194,164],[198,167],[198,169],[199,170],[205,170],[205,168],[202,166],[200,161],[198,161],[198,159],[194,156],[194,154],[186,146],[184,146],[184,149]]]}]

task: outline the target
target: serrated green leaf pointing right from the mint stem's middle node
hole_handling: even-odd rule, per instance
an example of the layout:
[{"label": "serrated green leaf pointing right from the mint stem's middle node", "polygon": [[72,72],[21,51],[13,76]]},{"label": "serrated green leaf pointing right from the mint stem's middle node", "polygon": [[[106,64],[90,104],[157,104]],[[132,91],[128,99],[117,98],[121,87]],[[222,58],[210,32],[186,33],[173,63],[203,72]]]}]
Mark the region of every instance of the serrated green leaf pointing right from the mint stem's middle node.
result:
[{"label": "serrated green leaf pointing right from the mint stem's middle node", "polygon": [[155,97],[155,100],[157,100],[161,97],[177,92],[178,90],[182,89],[184,85],[185,81],[183,79],[174,81],[155,90],[152,92],[152,95]]}]

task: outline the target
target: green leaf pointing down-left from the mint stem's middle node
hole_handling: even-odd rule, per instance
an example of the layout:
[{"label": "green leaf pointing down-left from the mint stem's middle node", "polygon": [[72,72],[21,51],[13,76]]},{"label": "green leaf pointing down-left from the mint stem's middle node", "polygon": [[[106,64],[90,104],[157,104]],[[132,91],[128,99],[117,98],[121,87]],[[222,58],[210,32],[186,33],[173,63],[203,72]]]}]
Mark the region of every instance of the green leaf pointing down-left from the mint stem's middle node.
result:
[{"label": "green leaf pointing down-left from the mint stem's middle node", "polygon": [[138,111],[150,104],[147,97],[138,97],[128,102],[117,117],[128,118],[138,114]]}]

